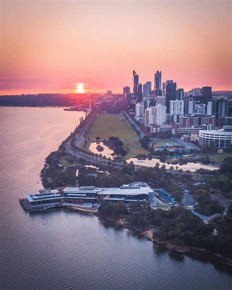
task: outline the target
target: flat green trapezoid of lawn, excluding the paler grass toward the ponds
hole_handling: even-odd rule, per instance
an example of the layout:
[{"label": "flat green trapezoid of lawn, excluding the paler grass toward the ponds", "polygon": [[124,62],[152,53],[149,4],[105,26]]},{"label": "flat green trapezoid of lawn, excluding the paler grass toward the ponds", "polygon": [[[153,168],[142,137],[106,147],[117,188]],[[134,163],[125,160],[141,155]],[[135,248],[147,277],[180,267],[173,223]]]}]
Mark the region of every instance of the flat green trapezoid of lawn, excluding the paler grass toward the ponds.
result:
[{"label": "flat green trapezoid of lawn, excluding the paler grass toward the ponds", "polygon": [[119,139],[139,138],[135,130],[128,121],[120,121],[122,115],[97,115],[93,125],[91,126],[86,138],[108,139],[110,136],[116,136]]}]

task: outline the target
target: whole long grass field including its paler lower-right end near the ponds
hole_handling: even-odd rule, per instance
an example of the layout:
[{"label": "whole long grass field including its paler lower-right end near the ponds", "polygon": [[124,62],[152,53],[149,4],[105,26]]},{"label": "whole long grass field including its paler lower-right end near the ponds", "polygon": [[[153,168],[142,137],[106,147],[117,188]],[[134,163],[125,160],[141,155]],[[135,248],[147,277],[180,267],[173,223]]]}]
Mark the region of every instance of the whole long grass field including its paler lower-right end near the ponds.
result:
[{"label": "whole long grass field including its paler lower-right end near the ponds", "polygon": [[90,138],[94,141],[97,136],[101,140],[109,139],[111,136],[118,137],[123,142],[123,147],[129,149],[124,159],[130,159],[138,154],[147,154],[148,151],[139,143],[140,136],[138,136],[127,120],[120,121],[121,117],[123,115],[97,115],[93,125],[85,136],[86,139]]}]

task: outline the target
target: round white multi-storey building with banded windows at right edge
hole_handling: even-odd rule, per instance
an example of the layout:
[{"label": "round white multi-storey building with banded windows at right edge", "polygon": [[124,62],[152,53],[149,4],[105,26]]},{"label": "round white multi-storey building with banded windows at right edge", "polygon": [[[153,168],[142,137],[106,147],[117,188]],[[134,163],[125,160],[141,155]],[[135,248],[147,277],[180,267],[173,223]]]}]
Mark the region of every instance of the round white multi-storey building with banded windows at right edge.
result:
[{"label": "round white multi-storey building with banded windows at right edge", "polygon": [[208,126],[208,130],[199,131],[199,144],[209,144],[214,142],[217,148],[230,148],[232,145],[232,126],[223,126],[222,129],[212,130]]}]

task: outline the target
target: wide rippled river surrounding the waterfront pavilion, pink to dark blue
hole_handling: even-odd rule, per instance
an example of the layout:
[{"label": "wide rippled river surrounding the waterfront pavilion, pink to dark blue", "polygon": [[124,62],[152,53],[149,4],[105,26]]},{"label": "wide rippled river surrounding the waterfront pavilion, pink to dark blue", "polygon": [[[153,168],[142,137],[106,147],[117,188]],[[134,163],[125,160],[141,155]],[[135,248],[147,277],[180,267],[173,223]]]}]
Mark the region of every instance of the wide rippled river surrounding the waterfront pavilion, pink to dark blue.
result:
[{"label": "wide rippled river surrounding the waterfront pavilion, pink to dark blue", "polygon": [[0,108],[0,114],[1,290],[231,290],[228,267],[168,252],[96,217],[62,209],[25,213],[19,197],[41,187],[45,157],[84,113]]}]

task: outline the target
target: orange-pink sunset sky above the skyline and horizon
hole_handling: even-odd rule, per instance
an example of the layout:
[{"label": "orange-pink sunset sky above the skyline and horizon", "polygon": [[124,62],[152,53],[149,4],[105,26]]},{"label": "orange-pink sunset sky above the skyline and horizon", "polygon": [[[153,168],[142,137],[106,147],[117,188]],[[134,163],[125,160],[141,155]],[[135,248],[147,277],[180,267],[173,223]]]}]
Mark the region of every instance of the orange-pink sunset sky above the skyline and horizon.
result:
[{"label": "orange-pink sunset sky above the skyline and horizon", "polygon": [[0,2],[0,95],[132,91],[162,70],[185,91],[232,90],[231,1]]}]

